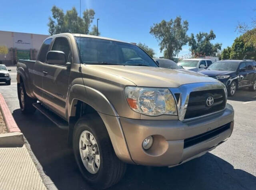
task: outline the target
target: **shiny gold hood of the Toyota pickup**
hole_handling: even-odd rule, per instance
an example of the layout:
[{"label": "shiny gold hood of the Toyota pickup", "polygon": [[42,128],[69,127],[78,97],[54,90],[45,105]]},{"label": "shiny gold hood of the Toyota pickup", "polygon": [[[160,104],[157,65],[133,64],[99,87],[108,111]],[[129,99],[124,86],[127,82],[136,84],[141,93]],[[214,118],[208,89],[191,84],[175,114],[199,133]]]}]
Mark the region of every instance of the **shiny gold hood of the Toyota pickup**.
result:
[{"label": "shiny gold hood of the Toyota pickup", "polygon": [[188,83],[216,82],[202,74],[187,72],[182,69],[162,67],[123,66],[123,65],[86,65],[91,69],[117,75],[142,87],[179,87]]}]

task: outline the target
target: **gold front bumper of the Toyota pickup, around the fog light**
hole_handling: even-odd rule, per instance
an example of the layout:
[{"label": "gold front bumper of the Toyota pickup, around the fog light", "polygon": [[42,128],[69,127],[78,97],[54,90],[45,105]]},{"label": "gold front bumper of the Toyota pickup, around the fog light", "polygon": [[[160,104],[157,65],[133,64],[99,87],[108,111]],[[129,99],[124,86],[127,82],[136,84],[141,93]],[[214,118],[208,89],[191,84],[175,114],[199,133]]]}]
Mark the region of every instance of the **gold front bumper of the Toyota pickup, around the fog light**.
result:
[{"label": "gold front bumper of the Toyota pickup, around the fog light", "polygon": [[[194,121],[137,120],[120,117],[130,156],[136,164],[149,166],[175,166],[212,150],[230,137],[234,126],[234,110],[227,104],[220,113]],[[184,142],[200,134],[229,125],[220,133],[203,138],[196,144]],[[152,135],[154,143],[149,150],[142,148],[142,141]],[[195,141],[196,142],[196,141]]]}]

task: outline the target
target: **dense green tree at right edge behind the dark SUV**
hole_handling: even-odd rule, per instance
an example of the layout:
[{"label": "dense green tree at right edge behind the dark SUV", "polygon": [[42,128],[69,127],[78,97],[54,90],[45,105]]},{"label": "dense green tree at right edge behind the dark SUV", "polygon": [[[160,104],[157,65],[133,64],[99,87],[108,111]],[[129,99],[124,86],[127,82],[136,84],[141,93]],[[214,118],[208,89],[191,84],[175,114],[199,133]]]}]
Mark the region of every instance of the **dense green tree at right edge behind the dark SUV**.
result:
[{"label": "dense green tree at right edge behind the dark SUV", "polygon": [[252,44],[244,42],[244,36],[239,36],[234,40],[230,51],[230,59],[255,59],[256,49]]}]

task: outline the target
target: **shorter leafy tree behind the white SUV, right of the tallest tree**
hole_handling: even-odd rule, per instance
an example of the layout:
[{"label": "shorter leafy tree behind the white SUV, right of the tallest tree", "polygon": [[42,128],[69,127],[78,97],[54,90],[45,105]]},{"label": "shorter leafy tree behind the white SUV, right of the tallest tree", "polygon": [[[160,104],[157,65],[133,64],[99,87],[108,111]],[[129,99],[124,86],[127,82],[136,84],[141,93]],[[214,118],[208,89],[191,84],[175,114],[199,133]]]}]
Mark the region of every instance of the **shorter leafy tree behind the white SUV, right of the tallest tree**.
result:
[{"label": "shorter leafy tree behind the white SUV, right of the tallest tree", "polygon": [[188,39],[188,46],[190,46],[190,51],[193,56],[216,56],[218,50],[221,49],[222,44],[216,43],[212,44],[210,41],[216,38],[212,30],[210,33],[199,32],[196,34],[196,38],[192,33]]}]

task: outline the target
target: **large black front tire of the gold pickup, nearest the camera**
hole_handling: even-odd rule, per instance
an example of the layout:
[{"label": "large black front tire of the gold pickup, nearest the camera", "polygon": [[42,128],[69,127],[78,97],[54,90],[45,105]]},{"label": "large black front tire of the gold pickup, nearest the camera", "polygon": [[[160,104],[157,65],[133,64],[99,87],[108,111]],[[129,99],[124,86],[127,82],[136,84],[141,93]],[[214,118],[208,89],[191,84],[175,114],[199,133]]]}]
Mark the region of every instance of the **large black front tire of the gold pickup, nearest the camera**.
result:
[{"label": "large black front tire of the gold pickup, nearest the camera", "polygon": [[[89,142],[89,144],[92,144],[92,146],[89,146],[88,143],[87,145],[82,143],[81,140],[84,137],[83,135],[89,135],[91,139],[94,137],[96,145],[94,144],[94,140]],[[89,137],[88,139],[90,139]],[[86,142],[86,139],[84,140],[84,142]],[[90,151],[92,150],[90,149],[91,147],[95,147],[93,149],[96,152],[96,155],[94,154],[95,162],[91,162],[91,165],[95,167],[96,171],[89,171],[89,169],[86,168],[86,163],[90,162],[89,154],[92,153],[92,151]],[[98,153],[96,151],[97,148]],[[110,137],[108,136],[108,131],[106,130],[106,127],[104,126],[104,123],[99,115],[90,114],[78,119],[73,133],[73,150],[78,168],[82,173],[82,176],[85,178],[86,182],[88,182],[94,188],[108,188],[119,182],[124,176],[126,171],[126,164],[117,158],[114,152],[114,148],[112,147]],[[80,150],[81,152],[87,150],[87,153],[83,154],[83,152],[81,153],[81,156]],[[82,161],[82,157],[84,157],[85,164]],[[98,167],[96,167],[96,161],[98,158],[100,158],[100,160],[98,161]],[[87,167],[90,168],[90,165],[88,164]]]}]

